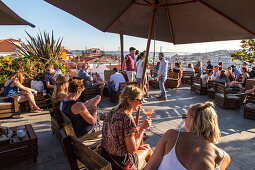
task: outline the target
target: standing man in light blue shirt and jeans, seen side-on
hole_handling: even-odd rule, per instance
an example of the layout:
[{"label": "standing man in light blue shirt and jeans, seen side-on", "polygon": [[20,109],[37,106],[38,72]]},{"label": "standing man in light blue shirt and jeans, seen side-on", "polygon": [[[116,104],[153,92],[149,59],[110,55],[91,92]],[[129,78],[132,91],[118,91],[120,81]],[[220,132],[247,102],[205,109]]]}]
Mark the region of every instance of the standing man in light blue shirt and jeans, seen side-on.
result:
[{"label": "standing man in light blue shirt and jeans, seen side-on", "polygon": [[160,66],[158,70],[158,81],[159,81],[159,88],[161,90],[161,95],[158,96],[157,98],[159,100],[165,101],[167,100],[166,89],[165,89],[165,81],[167,78],[167,62],[165,60],[163,53],[159,53],[159,60],[160,60]]}]

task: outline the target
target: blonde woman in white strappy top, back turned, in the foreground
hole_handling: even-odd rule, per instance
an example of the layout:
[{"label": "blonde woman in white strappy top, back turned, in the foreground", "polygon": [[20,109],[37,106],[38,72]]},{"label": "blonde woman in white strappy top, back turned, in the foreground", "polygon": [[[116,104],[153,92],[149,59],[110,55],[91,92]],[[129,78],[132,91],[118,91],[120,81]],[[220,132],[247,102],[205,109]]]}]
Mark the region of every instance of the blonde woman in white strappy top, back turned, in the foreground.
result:
[{"label": "blonde woman in white strappy top, back turned, in the foreground", "polygon": [[213,103],[195,104],[182,118],[186,132],[168,130],[160,138],[145,170],[224,170],[230,157],[214,145],[220,139],[220,129]]}]

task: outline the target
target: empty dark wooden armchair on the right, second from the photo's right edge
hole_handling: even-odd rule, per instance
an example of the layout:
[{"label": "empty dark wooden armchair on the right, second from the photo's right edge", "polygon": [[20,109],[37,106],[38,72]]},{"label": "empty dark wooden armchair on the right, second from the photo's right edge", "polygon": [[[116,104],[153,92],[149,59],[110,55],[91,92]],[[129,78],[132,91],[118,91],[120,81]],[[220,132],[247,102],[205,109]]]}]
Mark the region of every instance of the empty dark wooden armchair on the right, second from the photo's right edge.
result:
[{"label": "empty dark wooden armchair on the right, second from the photo's right edge", "polygon": [[236,94],[228,94],[225,85],[217,83],[215,104],[223,109],[240,109],[241,97]]}]

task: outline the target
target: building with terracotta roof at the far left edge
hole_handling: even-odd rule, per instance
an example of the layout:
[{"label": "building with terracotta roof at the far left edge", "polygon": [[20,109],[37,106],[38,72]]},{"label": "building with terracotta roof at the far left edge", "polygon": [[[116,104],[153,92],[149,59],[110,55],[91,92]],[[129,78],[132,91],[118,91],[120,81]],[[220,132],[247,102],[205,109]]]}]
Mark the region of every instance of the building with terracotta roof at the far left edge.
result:
[{"label": "building with terracotta roof at the far left edge", "polygon": [[0,57],[12,55],[14,57],[18,57],[18,48],[14,44],[18,45],[21,43],[21,40],[15,40],[15,39],[3,39],[0,40]]}]

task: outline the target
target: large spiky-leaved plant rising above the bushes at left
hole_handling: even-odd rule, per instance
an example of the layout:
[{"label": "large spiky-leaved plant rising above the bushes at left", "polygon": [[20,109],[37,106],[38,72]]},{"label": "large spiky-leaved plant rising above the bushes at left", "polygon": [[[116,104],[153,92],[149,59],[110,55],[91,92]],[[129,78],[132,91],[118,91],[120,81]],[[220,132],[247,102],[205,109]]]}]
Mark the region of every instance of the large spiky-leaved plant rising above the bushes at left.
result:
[{"label": "large spiky-leaved plant rising above the bushes at left", "polygon": [[37,36],[33,37],[26,32],[29,40],[26,39],[26,44],[19,43],[16,45],[19,55],[29,58],[36,59],[46,64],[56,64],[58,57],[61,54],[61,44],[63,38],[58,38],[55,40],[53,31],[51,35],[49,33],[40,32]]}]

